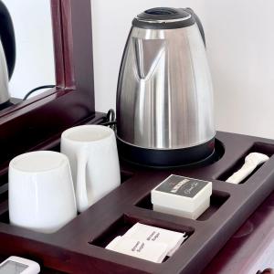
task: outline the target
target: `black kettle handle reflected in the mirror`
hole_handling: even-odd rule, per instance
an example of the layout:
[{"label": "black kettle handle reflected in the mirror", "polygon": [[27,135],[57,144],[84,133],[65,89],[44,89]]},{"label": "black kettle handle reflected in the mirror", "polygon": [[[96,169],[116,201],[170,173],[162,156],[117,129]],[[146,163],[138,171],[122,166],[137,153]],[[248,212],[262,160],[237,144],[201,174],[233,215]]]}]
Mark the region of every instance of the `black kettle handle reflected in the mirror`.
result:
[{"label": "black kettle handle reflected in the mirror", "polygon": [[16,65],[16,36],[12,18],[0,0],[0,38],[5,52],[8,78],[11,79]]}]

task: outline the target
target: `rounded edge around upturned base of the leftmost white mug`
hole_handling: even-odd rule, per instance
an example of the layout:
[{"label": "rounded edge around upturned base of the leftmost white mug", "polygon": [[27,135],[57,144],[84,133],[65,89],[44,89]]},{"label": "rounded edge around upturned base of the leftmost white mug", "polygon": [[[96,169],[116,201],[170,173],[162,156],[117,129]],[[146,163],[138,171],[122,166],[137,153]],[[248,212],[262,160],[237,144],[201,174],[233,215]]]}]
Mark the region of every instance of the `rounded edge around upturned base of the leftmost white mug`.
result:
[{"label": "rounded edge around upturned base of the leftmost white mug", "polygon": [[[60,162],[60,164],[58,166],[54,166],[51,168],[47,168],[47,169],[41,169],[41,170],[26,170],[23,168],[18,168],[16,166],[16,161],[20,161],[21,159],[27,157],[27,155],[32,155],[32,154],[51,154],[51,155],[58,155],[60,158],[63,158],[64,161]],[[68,156],[65,155],[64,153],[58,153],[58,152],[54,152],[54,151],[34,151],[34,152],[29,152],[29,153],[22,153],[17,155],[16,157],[14,157],[10,163],[9,163],[9,169],[12,168],[13,170],[19,171],[21,173],[26,173],[26,174],[41,174],[41,173],[48,173],[48,172],[52,172],[54,170],[58,170],[59,168],[69,165],[68,162]]]}]

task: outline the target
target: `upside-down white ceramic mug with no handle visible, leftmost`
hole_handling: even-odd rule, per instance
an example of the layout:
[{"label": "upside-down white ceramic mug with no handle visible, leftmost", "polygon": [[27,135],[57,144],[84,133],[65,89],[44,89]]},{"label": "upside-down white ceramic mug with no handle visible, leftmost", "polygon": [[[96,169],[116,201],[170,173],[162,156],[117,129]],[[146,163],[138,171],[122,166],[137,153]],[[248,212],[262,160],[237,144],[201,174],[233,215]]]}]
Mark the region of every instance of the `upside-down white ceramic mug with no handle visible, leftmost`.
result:
[{"label": "upside-down white ceramic mug with no handle visible, leftmost", "polygon": [[68,157],[38,151],[9,163],[8,206],[12,225],[53,233],[77,216]]}]

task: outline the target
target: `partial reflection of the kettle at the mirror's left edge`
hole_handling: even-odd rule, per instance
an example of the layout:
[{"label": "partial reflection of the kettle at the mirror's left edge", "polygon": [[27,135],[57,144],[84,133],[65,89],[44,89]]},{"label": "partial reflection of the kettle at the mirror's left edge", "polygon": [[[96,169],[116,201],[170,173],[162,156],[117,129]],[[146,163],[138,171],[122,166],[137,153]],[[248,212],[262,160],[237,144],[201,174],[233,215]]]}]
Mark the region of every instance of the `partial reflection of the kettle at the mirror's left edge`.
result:
[{"label": "partial reflection of the kettle at the mirror's left edge", "polygon": [[9,105],[8,80],[16,64],[16,39],[11,16],[0,1],[0,109]]}]

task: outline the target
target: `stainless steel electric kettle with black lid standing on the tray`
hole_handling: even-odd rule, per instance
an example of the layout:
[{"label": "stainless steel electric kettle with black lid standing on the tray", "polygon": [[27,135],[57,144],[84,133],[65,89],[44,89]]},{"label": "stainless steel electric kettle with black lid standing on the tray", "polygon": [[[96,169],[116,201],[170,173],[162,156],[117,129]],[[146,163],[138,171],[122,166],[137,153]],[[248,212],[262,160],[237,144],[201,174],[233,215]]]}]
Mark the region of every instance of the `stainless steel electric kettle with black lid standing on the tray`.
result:
[{"label": "stainless steel electric kettle with black lid standing on the tray", "polygon": [[210,157],[213,108],[204,30],[193,10],[157,7],[136,16],[117,88],[121,158],[162,167]]}]

